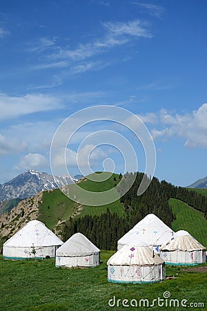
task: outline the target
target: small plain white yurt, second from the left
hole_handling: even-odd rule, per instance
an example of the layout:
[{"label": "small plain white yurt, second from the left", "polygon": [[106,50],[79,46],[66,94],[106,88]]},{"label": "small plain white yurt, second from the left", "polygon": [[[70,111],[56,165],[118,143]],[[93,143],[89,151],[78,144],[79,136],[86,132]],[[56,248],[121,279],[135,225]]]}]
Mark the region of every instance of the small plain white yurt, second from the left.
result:
[{"label": "small plain white yurt, second from the left", "polygon": [[81,233],[73,234],[56,252],[56,267],[95,267],[100,264],[100,249]]}]

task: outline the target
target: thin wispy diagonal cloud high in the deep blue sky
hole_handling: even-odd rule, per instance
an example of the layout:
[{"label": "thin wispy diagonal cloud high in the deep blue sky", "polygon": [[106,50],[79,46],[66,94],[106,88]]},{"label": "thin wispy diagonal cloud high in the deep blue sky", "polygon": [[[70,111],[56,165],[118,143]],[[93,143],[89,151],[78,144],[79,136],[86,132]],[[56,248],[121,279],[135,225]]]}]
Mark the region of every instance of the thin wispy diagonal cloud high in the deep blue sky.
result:
[{"label": "thin wispy diagonal cloud high in the deep blue sky", "polygon": [[[103,35],[88,43],[79,42],[77,46],[63,46],[58,44],[58,38],[42,37],[28,44],[27,50],[30,53],[39,53],[42,58],[39,64],[30,68],[34,70],[44,70],[50,68],[70,67],[72,74],[83,73],[89,70],[104,68],[95,62],[87,62],[86,59],[105,53],[112,48],[134,43],[135,39],[151,38],[152,34],[148,29],[148,23],[138,19],[126,22],[105,22],[101,23]],[[83,64],[76,64],[77,62]],[[85,63],[84,63],[85,62]],[[108,65],[108,64],[107,64]]]}]

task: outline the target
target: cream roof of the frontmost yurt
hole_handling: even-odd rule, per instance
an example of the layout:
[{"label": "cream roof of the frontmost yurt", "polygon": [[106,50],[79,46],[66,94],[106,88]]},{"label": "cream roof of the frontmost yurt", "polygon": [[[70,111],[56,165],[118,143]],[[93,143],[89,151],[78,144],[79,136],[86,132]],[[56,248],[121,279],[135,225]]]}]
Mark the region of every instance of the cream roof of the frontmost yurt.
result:
[{"label": "cream roof of the frontmost yurt", "polygon": [[164,261],[148,246],[124,245],[112,255],[107,265],[159,265]]}]

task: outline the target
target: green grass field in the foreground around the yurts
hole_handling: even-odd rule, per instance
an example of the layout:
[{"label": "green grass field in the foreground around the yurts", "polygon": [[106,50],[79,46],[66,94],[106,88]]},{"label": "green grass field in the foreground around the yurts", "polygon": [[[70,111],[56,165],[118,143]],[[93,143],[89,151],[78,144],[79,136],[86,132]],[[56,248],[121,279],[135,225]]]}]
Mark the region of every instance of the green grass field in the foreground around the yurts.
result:
[{"label": "green grass field in the foreground around the yurts", "polygon": [[[3,261],[0,258],[1,299],[0,310],[45,311],[45,310],[186,310],[181,300],[190,303],[204,303],[206,310],[207,272],[187,272],[184,267],[166,267],[166,276],[175,276],[154,284],[108,283],[106,262],[113,252],[101,252],[101,265],[89,269],[56,268],[54,259],[43,261]],[[202,265],[207,267],[207,265]],[[206,271],[206,268],[203,268]],[[139,308],[140,299],[164,299],[164,292],[170,292],[170,299],[178,299],[179,308]],[[116,297],[115,307],[108,301]],[[119,307],[117,307],[117,299]],[[124,299],[138,301],[138,308],[124,307]],[[164,299],[169,303],[170,299]],[[111,301],[112,303],[113,301]],[[135,303],[135,302],[134,302]],[[142,304],[143,305],[143,304]]]}]

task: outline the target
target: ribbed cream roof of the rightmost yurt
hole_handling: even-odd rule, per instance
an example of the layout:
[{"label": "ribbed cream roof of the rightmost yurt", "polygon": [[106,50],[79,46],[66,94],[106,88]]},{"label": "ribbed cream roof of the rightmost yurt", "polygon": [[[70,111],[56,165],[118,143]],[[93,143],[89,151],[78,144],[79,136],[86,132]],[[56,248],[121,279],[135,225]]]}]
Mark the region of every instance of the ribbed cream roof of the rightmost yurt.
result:
[{"label": "ribbed cream roof of the rightmost yurt", "polygon": [[201,243],[199,243],[187,231],[179,230],[178,232],[175,232],[171,239],[161,245],[160,249],[164,251],[175,251],[179,249],[184,252],[190,252],[194,250],[206,249],[206,247],[201,245]]}]

